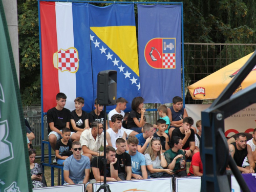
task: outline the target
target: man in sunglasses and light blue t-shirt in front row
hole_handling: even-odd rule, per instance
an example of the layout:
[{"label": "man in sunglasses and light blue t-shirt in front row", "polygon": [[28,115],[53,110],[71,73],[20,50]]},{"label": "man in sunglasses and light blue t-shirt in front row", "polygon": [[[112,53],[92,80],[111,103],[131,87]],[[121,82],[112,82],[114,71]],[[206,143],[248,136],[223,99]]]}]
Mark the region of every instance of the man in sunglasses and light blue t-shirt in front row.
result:
[{"label": "man in sunglasses and light blue t-shirt in front row", "polygon": [[69,184],[86,184],[85,188],[92,191],[92,184],[89,183],[90,160],[88,157],[80,154],[81,144],[78,141],[72,143],[73,155],[68,157],[64,163],[64,185]]}]

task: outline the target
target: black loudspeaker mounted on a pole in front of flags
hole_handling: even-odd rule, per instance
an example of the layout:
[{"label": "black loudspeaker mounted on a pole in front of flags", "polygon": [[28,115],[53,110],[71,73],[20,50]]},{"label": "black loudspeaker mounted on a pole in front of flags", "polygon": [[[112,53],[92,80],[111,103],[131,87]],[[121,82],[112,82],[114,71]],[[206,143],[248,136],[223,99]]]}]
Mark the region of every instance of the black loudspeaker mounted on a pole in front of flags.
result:
[{"label": "black loudspeaker mounted on a pole in front of flags", "polygon": [[106,106],[116,104],[116,80],[116,71],[106,70],[98,73],[98,104]]}]

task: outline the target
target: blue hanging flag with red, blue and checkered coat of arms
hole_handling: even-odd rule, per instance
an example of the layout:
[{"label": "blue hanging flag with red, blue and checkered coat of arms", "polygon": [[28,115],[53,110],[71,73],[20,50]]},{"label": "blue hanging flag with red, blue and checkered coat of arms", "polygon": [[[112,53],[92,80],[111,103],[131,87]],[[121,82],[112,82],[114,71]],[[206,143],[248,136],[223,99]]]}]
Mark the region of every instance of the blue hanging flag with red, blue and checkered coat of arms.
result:
[{"label": "blue hanging flag with red, blue and checkered coat of arms", "polygon": [[139,70],[145,103],[181,96],[181,5],[138,5]]}]

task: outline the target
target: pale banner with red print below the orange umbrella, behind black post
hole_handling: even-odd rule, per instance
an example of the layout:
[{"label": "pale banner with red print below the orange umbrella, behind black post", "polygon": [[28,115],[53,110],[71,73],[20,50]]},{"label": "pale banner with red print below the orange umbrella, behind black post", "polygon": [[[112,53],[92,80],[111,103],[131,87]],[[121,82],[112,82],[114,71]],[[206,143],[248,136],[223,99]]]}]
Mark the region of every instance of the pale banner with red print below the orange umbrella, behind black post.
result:
[{"label": "pale banner with red print below the orange umbrella, behind black post", "polygon": [[[201,112],[209,108],[210,104],[186,104],[186,110],[189,117],[196,122],[201,120]],[[256,127],[256,104],[251,104],[247,108],[231,115],[225,119],[225,136],[230,137],[236,133],[251,133]]]}]

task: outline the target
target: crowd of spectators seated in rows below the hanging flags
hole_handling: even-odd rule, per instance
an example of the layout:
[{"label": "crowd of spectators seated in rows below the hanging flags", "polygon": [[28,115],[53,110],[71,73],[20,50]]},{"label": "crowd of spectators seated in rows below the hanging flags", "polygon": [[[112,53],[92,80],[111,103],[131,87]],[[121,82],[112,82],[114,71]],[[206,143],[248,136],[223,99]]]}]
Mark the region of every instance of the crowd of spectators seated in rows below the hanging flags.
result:
[{"label": "crowd of spectators seated in rows below the hanging flags", "polygon": [[[127,101],[118,98],[116,109],[109,113],[108,119],[104,118],[103,106],[97,99],[95,110],[89,114],[82,110],[83,98],[74,100],[72,112],[64,108],[66,99],[65,94],[58,93],[55,108],[47,113],[49,142],[56,154],[53,163],[63,165],[65,185],[84,183],[92,191],[91,183],[103,181],[103,161],[106,181],[203,175],[201,120],[196,122],[197,128],[192,126],[194,120],[183,108],[182,98],[174,97],[170,108],[160,105],[160,119],[154,125],[146,122],[142,97],[133,99],[129,114],[123,112]],[[243,133],[228,141],[231,157],[241,173],[254,173],[255,131],[248,143]],[[104,134],[106,157],[103,156]],[[188,174],[187,159],[191,160]],[[36,173],[32,174],[33,182],[40,182],[41,178],[33,175]]]}]

